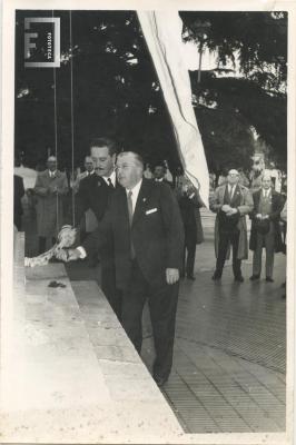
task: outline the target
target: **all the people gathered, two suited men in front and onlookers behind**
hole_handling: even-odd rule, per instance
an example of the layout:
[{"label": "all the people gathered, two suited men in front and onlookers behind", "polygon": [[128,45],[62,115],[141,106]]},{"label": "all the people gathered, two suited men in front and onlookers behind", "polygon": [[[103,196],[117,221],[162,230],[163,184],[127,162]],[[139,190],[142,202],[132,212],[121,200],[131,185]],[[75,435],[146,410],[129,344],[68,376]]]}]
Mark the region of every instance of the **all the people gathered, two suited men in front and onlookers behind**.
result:
[{"label": "all the people gathered, two suited men in front and onlookers behind", "polygon": [[[14,224],[20,229],[24,190],[18,178],[14,175]],[[139,353],[141,315],[148,299],[156,349],[154,378],[161,386],[172,363],[179,280],[196,279],[196,246],[204,241],[204,202],[198,190],[180,170],[174,177],[166,160],[144,165],[137,152],[118,154],[114,140],[97,138],[85,158],[85,171],[70,186],[57,168],[57,158],[50,156],[47,169],[37,174],[30,197],[39,253],[46,250],[47,239],[56,241],[62,225],[78,227],[77,245],[65,250],[62,259],[87,258],[92,266],[99,255],[101,288]],[[236,281],[244,281],[241,260],[248,257],[249,248],[254,250],[250,279],[260,278],[265,248],[265,279],[274,280],[274,254],[284,251],[285,244],[280,227],[287,219],[284,205],[270,175],[263,175],[260,187],[251,191],[241,184],[241,171],[227,172],[209,199],[216,214],[214,280],[221,279],[230,247]],[[249,243],[247,216],[251,219]]]}]

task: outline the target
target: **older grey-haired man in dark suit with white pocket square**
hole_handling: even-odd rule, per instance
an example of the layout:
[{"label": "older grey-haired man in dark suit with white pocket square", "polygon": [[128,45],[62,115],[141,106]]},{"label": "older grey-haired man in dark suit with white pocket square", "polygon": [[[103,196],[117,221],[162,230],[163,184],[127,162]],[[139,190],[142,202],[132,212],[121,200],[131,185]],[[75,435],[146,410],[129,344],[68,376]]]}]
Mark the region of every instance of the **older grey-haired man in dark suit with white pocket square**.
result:
[{"label": "older grey-haired man in dark suit with white pocket square", "polygon": [[116,285],[122,291],[121,324],[140,353],[141,316],[148,297],[156,349],[154,378],[162,385],[172,363],[184,229],[170,188],[142,178],[142,160],[135,152],[118,156],[121,187],[110,197],[98,230],[82,247],[69,250],[69,259],[91,255],[101,248],[107,234],[111,236]]}]

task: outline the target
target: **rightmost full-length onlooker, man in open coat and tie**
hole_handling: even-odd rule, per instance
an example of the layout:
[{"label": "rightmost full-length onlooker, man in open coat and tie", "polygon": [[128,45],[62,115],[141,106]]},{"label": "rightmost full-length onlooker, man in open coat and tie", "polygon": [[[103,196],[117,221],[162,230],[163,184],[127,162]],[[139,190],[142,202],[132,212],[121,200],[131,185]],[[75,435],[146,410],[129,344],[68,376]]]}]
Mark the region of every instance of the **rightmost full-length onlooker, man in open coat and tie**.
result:
[{"label": "rightmost full-length onlooker, man in open coat and tie", "polygon": [[273,189],[272,184],[272,177],[264,175],[262,189],[253,194],[254,210],[250,214],[249,239],[249,248],[254,250],[251,281],[260,278],[263,247],[266,249],[266,281],[274,281],[274,255],[284,248],[279,227],[284,200]]}]

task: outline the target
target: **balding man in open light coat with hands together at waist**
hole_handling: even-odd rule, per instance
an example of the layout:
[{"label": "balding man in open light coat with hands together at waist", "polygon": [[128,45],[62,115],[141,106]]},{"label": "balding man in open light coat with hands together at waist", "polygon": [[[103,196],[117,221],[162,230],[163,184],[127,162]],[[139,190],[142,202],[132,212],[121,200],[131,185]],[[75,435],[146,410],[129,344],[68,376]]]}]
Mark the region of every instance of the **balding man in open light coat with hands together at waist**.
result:
[{"label": "balding man in open light coat with hands together at waist", "polygon": [[221,278],[231,245],[235,280],[243,283],[241,259],[248,258],[246,215],[253,210],[253,197],[250,191],[239,184],[239,172],[236,169],[229,170],[226,184],[215,190],[209,208],[217,214],[215,220],[217,261],[213,279]]}]

